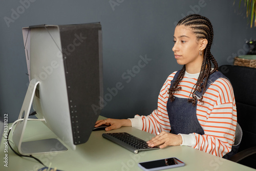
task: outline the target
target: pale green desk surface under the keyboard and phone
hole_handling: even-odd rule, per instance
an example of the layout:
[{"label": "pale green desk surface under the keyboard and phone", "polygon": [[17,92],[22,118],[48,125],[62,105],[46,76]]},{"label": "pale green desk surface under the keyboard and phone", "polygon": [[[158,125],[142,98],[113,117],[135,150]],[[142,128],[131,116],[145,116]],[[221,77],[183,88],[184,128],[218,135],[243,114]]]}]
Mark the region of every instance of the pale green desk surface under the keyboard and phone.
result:
[{"label": "pale green desk surface under the keyboard and phone", "polygon": [[[24,141],[38,140],[42,138],[56,138],[56,136],[41,122],[29,121],[27,124]],[[105,131],[92,132],[88,142],[77,145],[75,151],[68,149],[66,152],[34,155],[46,165],[60,170],[140,170],[139,162],[156,160],[169,157],[177,157],[185,162],[185,166],[168,170],[254,170],[250,167],[231,162],[187,146],[168,146],[163,149],[139,152],[133,154],[130,151],[104,139],[101,135]],[[127,132],[141,139],[149,140],[152,134],[137,130],[133,127],[122,127],[110,132]],[[10,135],[11,137],[11,135]],[[10,138],[11,139],[11,138]],[[35,170],[44,167],[34,159],[16,156],[8,147],[8,167],[4,166],[4,147],[2,140],[0,146],[0,170]],[[13,144],[11,144],[14,146]]]}]

